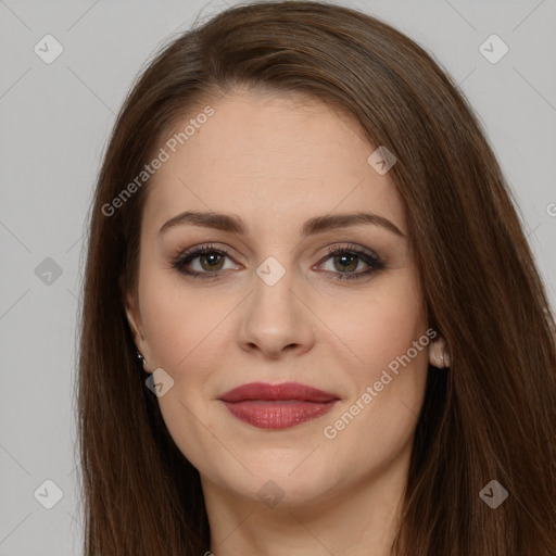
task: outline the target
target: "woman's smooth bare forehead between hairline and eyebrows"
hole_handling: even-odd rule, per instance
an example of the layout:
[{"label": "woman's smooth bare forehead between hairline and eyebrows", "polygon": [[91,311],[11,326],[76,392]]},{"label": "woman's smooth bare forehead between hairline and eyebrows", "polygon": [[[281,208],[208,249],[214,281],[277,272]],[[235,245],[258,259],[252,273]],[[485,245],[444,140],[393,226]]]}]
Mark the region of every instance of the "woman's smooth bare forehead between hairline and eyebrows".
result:
[{"label": "woman's smooth bare forehead between hairline and eyebrows", "polygon": [[[371,211],[405,232],[392,181],[368,163],[376,147],[343,112],[307,97],[247,92],[210,106],[210,117],[193,110],[163,139],[168,159],[148,186],[148,224],[195,208],[276,229],[334,211]],[[172,137],[181,137],[175,152],[166,146]]]}]

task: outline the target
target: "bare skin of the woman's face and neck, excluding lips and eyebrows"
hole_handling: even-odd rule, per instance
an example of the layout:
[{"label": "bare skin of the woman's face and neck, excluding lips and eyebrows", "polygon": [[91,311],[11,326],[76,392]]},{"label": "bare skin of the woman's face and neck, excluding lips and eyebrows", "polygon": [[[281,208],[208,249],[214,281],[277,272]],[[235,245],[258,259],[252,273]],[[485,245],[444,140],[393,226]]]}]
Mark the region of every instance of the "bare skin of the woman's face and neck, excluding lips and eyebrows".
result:
[{"label": "bare skin of the woman's face and neck, excluding lips and eyebrows", "polygon": [[[367,163],[375,147],[328,105],[245,91],[211,105],[215,114],[149,184],[138,291],[126,292],[146,369],[174,380],[159,403],[200,472],[211,551],[386,555],[438,340],[334,439],[323,431],[428,329],[402,204],[388,173]],[[235,214],[248,233],[190,225],[159,233],[186,210]],[[368,224],[301,235],[311,217],[359,211],[388,218],[406,237]],[[185,249],[206,243],[229,251],[216,261],[219,277],[192,279],[172,267]],[[375,252],[384,269],[334,280],[368,268],[356,258],[343,270],[326,252],[349,243]],[[268,256],[286,270],[271,287],[256,274]],[[189,268],[211,266],[198,256]],[[217,400],[245,382],[290,380],[340,401],[316,419],[264,430]],[[282,494],[274,507],[257,495],[270,480]]]}]

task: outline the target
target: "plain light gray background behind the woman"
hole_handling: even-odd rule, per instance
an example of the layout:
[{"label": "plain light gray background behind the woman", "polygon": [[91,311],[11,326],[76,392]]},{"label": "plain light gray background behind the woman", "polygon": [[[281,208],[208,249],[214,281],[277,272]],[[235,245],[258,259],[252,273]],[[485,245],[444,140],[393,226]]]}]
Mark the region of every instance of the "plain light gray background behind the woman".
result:
[{"label": "plain light gray background behind the woman", "polygon": [[[0,556],[81,554],[73,389],[86,211],[115,114],[147,59],[199,14],[232,3],[0,0]],[[393,24],[460,84],[555,306],[556,1],[342,3]],[[64,49],[51,64],[34,51],[47,34]],[[492,34],[509,48],[497,63],[479,50]],[[46,274],[55,266],[47,257],[59,277]],[[63,491],[51,509],[39,503],[54,501],[48,479]]]}]

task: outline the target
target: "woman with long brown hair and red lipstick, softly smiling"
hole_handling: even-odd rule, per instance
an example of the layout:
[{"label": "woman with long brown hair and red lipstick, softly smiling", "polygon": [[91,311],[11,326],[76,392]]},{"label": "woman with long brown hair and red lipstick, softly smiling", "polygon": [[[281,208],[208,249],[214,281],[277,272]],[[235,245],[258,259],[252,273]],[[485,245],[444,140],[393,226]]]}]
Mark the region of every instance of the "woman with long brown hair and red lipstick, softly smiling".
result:
[{"label": "woman with long brown hair and red lipstick, softly smiling", "polygon": [[85,554],[556,554],[554,318],[410,39],[305,1],[184,34],[90,226]]}]

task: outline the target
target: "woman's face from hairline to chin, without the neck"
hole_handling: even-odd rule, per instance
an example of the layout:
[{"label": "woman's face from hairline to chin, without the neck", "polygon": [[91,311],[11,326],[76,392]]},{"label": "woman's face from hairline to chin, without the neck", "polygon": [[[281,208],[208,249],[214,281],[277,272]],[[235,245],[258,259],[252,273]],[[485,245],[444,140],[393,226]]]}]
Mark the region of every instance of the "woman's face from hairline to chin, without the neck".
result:
[{"label": "woman's face from hairline to chin, without the neck", "polygon": [[[406,472],[429,338],[401,202],[368,162],[376,148],[316,100],[238,92],[212,108],[175,153],[162,144],[138,304],[126,296],[147,370],[163,369],[172,437],[204,488],[243,500],[317,502]],[[161,231],[186,211],[203,216]],[[338,218],[359,213],[375,218]],[[252,382],[336,401],[222,400]]]}]

